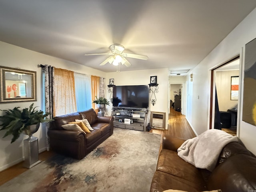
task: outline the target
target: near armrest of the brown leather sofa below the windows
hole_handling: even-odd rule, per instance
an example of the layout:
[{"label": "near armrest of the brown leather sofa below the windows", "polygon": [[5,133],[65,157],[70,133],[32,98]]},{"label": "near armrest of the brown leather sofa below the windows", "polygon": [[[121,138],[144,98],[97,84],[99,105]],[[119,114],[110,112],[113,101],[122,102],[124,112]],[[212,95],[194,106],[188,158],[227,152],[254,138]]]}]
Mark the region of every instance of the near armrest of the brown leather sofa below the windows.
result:
[{"label": "near armrest of the brown leather sofa below the windows", "polygon": [[48,130],[50,148],[60,154],[82,159],[86,156],[85,133],[72,130]]}]

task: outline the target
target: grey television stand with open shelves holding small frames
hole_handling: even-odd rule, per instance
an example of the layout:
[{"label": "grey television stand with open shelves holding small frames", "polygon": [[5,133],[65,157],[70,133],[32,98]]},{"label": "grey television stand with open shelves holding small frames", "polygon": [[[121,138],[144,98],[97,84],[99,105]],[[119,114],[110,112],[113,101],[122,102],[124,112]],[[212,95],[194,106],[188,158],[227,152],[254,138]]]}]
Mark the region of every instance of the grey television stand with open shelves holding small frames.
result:
[{"label": "grey television stand with open shelves holding small frames", "polygon": [[113,126],[123,129],[147,131],[148,109],[145,108],[113,108]]}]

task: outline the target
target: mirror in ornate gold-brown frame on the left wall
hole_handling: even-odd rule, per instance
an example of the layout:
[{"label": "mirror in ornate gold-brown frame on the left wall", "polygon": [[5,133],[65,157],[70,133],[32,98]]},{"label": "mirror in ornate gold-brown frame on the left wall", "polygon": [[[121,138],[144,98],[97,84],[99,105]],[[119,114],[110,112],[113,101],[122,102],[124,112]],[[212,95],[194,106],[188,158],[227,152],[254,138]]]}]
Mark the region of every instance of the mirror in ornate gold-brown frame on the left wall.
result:
[{"label": "mirror in ornate gold-brown frame on the left wall", "polygon": [[36,72],[0,66],[0,103],[36,101]]}]

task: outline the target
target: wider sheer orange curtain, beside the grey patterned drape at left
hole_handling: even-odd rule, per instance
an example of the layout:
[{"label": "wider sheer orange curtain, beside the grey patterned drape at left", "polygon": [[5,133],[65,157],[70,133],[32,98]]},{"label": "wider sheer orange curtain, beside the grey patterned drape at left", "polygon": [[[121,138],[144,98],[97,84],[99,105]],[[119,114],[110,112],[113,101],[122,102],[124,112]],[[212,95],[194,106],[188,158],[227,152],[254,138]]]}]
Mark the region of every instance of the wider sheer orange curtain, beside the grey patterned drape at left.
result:
[{"label": "wider sheer orange curtain, beside the grey patterned drape at left", "polygon": [[54,116],[76,112],[74,72],[54,68]]}]

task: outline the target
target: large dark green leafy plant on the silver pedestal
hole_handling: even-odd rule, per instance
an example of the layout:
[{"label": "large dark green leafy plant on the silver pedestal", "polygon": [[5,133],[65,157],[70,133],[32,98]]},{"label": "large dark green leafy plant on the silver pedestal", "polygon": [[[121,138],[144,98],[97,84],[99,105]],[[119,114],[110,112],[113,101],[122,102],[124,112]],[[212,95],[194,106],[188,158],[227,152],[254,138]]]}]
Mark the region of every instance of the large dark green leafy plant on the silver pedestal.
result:
[{"label": "large dark green leafy plant on the silver pedestal", "polygon": [[29,129],[30,125],[49,122],[52,119],[46,118],[49,113],[45,113],[42,110],[35,110],[34,103],[32,103],[29,108],[24,108],[23,110],[19,110],[20,107],[14,107],[13,109],[1,110],[4,111],[5,114],[0,116],[0,121],[2,124],[2,128],[0,130],[6,130],[3,138],[12,134],[12,141],[16,141],[20,134]]}]

